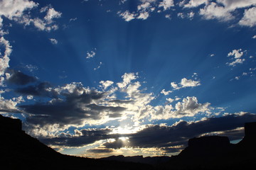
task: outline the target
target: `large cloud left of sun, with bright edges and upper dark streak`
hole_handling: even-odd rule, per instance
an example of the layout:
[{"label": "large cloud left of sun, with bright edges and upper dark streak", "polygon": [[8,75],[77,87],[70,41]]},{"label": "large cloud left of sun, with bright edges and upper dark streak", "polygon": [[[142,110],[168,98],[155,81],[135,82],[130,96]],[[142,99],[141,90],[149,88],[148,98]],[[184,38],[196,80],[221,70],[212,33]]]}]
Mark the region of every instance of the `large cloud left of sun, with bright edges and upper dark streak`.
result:
[{"label": "large cloud left of sun, with bright edges and upper dark streak", "polygon": [[106,97],[105,92],[87,89],[82,84],[67,84],[58,89],[38,84],[17,92],[53,98],[45,103],[19,106],[23,112],[30,114],[27,122],[35,125],[97,125],[106,123],[111,118],[120,118],[122,111],[126,110],[121,106],[100,105],[99,101],[104,101]]}]

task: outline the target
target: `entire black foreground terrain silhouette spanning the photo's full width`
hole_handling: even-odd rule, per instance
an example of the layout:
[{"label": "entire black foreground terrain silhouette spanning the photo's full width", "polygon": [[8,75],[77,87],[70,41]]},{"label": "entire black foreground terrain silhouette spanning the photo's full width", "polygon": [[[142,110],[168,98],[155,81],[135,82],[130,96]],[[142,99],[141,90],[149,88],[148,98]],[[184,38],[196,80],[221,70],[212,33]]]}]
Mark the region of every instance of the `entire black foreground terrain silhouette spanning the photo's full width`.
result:
[{"label": "entire black foreground terrain silhouette spanning the photo's full width", "polygon": [[21,130],[21,120],[0,115],[0,169],[255,169],[256,123],[245,123],[236,145],[228,137],[195,137],[174,157],[88,159],[56,152]]}]

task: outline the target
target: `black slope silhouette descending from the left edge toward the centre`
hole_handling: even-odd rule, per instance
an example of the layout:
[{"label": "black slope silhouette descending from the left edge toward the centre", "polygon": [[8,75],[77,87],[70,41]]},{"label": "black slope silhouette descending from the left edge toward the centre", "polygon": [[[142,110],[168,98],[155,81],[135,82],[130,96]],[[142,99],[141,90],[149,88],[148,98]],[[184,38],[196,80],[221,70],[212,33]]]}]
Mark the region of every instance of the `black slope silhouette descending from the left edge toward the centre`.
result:
[{"label": "black slope silhouette descending from the left edge toward the centre", "polygon": [[154,169],[148,164],[73,157],[56,152],[21,130],[21,120],[0,115],[0,169]]}]

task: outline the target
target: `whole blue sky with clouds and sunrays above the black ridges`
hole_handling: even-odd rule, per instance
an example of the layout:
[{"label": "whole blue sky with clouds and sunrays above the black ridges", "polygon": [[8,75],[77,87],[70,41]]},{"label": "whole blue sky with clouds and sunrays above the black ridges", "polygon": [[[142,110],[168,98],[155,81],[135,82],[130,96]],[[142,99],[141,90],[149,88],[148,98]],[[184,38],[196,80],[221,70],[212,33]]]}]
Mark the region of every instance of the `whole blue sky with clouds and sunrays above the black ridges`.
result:
[{"label": "whole blue sky with clouds and sunrays above the black ridges", "polygon": [[174,155],[256,121],[255,0],[0,0],[0,113],[63,154]]}]

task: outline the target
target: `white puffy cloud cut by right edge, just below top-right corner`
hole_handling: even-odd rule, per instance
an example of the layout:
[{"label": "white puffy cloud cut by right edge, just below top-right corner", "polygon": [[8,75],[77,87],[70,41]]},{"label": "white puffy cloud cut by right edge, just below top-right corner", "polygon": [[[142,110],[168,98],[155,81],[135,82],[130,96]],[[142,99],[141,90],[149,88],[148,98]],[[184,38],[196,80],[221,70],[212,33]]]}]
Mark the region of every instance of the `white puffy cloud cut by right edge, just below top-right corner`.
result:
[{"label": "white puffy cloud cut by right edge, just below top-right corner", "polygon": [[240,26],[256,26],[256,7],[245,9],[244,16],[238,22]]}]

